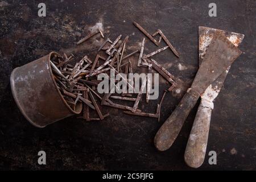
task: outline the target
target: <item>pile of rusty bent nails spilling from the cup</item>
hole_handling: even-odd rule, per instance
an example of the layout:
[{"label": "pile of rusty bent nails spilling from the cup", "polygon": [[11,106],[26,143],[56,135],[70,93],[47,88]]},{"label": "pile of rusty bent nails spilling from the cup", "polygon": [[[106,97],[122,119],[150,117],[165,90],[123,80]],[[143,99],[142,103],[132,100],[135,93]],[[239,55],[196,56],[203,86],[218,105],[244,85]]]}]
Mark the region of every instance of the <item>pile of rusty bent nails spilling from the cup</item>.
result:
[{"label": "pile of rusty bent nails spilling from the cup", "polygon": [[[80,118],[86,119],[86,121],[94,121],[94,120],[102,120],[109,115],[109,114],[105,114],[105,115],[102,114],[102,111],[100,110],[100,107],[97,104],[96,99],[94,98],[96,96],[97,98],[100,99],[101,105],[123,109],[125,110],[124,113],[126,114],[158,118],[158,121],[159,121],[160,107],[162,105],[162,102],[163,102],[164,96],[166,95],[167,90],[164,90],[160,103],[156,107],[156,113],[154,114],[144,113],[138,109],[139,101],[141,101],[141,98],[142,98],[142,91],[145,88],[145,86],[146,86],[146,102],[147,103],[150,97],[151,82],[150,82],[150,79],[148,79],[148,77],[142,80],[142,85],[139,90],[139,93],[137,94],[137,98],[133,98],[132,97],[133,94],[129,94],[129,93],[122,93],[122,96],[111,96],[112,93],[105,93],[104,96],[101,97],[100,94],[98,94],[96,91],[97,90],[96,86],[99,83],[99,80],[97,80],[97,75],[100,73],[106,73],[109,75],[110,69],[114,69],[115,74],[119,74],[122,72],[123,67],[126,75],[127,73],[133,73],[131,61],[128,58],[130,56],[135,55],[136,53],[139,53],[138,67],[147,67],[148,73],[151,73],[152,68],[154,68],[156,72],[158,72],[164,79],[170,82],[171,86],[170,88],[168,88],[169,92],[172,89],[174,89],[175,86],[177,85],[176,82],[174,81],[175,77],[171,75],[170,72],[164,69],[154,59],[151,59],[153,55],[156,55],[157,53],[162,52],[167,48],[170,48],[171,51],[174,52],[174,54],[177,57],[179,57],[175,48],[172,46],[172,44],[169,42],[166,36],[164,36],[161,30],[158,29],[154,34],[150,35],[138,23],[134,22],[134,25],[140,31],[142,31],[143,34],[146,35],[147,38],[150,39],[156,46],[159,46],[160,41],[162,39],[167,44],[167,46],[160,48],[154,52],[144,54],[145,38],[143,38],[141,43],[141,48],[125,56],[124,53],[125,53],[125,48],[127,46],[127,41],[129,39],[129,36],[126,36],[125,39],[123,39],[121,42],[122,35],[119,35],[114,40],[114,42],[112,42],[109,38],[105,39],[104,43],[100,46],[100,48],[98,48],[97,55],[94,59],[94,62],[90,60],[89,57],[86,55],[82,57],[82,59],[75,65],[71,64],[71,61],[74,60],[75,58],[75,56],[73,55],[67,56],[64,53],[64,56],[52,57],[50,63],[51,63],[53,76],[55,78],[57,87],[59,88],[61,94],[63,94],[63,97],[67,102],[67,104],[73,110],[75,110],[77,102],[82,102],[82,104],[84,104],[82,117]],[[95,32],[90,33],[85,38],[77,42],[76,44],[79,45],[81,43],[84,43],[86,40],[88,40],[89,38],[92,38],[92,36],[96,34],[100,34],[101,37],[104,38],[103,32],[101,30],[97,30]],[[160,35],[160,38],[157,41],[155,40],[154,36],[158,34]],[[100,51],[105,51],[108,57],[105,58],[104,56],[101,56],[100,54],[98,54]],[[100,59],[104,61],[103,64],[100,64]],[[128,61],[124,63],[125,60],[128,60]],[[123,78],[123,79],[125,80],[126,78]],[[127,84],[129,84],[129,82],[127,82]],[[133,101],[134,105],[133,107],[129,107],[126,105],[115,104],[110,100],[110,98],[117,99],[117,100]],[[90,118],[89,109],[96,110],[98,118]]]}]

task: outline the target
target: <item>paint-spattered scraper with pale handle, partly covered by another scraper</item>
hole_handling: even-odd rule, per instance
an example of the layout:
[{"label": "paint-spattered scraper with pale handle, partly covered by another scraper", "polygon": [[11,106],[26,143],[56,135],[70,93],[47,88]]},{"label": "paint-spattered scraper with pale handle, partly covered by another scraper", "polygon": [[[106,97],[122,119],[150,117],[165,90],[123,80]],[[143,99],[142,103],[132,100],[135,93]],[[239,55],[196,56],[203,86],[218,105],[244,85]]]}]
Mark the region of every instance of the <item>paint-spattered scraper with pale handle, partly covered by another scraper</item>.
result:
[{"label": "paint-spattered scraper with pale handle, partly covered by another scraper", "polygon": [[[244,37],[243,34],[199,26],[199,64],[204,61],[205,53],[216,32],[224,33],[226,38],[236,47],[239,46]],[[201,94],[201,102],[197,109],[195,121],[193,122],[184,154],[185,162],[190,167],[198,168],[204,162],[208,143],[210,117],[214,107],[213,100],[218,96],[218,93],[220,93],[226,75],[228,75],[229,68],[230,67],[212,82],[203,94]]]}]

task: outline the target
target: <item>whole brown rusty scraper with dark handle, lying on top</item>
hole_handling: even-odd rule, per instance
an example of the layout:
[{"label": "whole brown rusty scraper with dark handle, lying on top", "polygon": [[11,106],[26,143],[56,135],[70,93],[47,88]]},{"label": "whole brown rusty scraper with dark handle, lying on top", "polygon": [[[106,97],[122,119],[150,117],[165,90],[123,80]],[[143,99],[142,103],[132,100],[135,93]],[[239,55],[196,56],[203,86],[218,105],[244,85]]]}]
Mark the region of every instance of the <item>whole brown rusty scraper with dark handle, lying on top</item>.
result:
[{"label": "whole brown rusty scraper with dark handle, lying on top", "polygon": [[167,150],[172,146],[179,134],[181,127],[191,109],[195,106],[200,94],[221,75],[234,60],[241,54],[241,51],[234,46],[225,35],[214,34],[212,42],[209,44],[208,51],[204,57],[191,88],[188,89],[179,105],[172,112],[170,117],[160,127],[155,136],[155,146],[160,151]]}]

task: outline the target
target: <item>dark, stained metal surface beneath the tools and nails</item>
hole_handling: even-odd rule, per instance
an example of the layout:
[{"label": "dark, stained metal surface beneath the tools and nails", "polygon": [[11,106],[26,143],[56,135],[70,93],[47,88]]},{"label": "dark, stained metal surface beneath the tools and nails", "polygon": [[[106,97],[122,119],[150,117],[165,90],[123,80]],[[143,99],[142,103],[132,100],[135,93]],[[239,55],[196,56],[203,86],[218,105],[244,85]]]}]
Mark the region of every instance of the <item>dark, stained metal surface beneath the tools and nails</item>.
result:
[{"label": "dark, stained metal surface beneath the tools and nails", "polygon": [[[128,51],[135,50],[143,34],[133,20],[150,33],[160,28],[170,39],[180,59],[164,51],[155,60],[187,85],[198,68],[199,25],[245,34],[240,45],[243,53],[214,102],[207,154],[217,152],[217,165],[210,166],[206,156],[200,169],[256,169],[255,1],[216,1],[217,17],[208,16],[212,1],[44,1],[45,18],[38,17],[40,2],[0,1],[0,169],[191,169],[183,156],[197,107],[170,150],[159,152],[153,144],[156,131],[175,109],[184,89],[166,95],[160,123],[111,108],[110,117],[101,122],[71,117],[44,129],[26,121],[11,95],[9,77],[15,67],[51,51],[95,55],[92,50],[100,43],[93,39],[74,46],[97,22],[111,33],[111,39],[130,35]],[[148,53],[156,49],[148,40],[145,48]],[[136,65],[137,60],[133,61]],[[166,88],[160,86],[160,96]],[[144,110],[154,112],[157,101],[143,103],[140,108],[144,105]],[[37,163],[40,150],[47,153],[46,166]]]}]

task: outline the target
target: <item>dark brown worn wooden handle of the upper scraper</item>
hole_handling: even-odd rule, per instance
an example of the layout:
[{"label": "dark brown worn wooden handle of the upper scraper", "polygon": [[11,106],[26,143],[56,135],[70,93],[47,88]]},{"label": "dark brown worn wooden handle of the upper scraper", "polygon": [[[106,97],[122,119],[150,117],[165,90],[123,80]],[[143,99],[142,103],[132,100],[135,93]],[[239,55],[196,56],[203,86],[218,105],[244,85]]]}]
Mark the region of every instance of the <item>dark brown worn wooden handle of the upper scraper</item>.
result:
[{"label": "dark brown worn wooden handle of the upper scraper", "polygon": [[164,151],[172,146],[172,143],[180,133],[185,119],[187,119],[191,109],[196,105],[198,98],[199,95],[191,96],[191,94],[185,93],[179,105],[155,135],[154,143],[158,150]]}]

